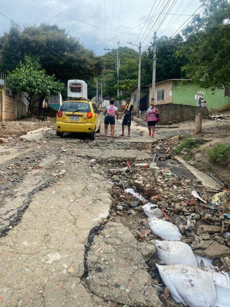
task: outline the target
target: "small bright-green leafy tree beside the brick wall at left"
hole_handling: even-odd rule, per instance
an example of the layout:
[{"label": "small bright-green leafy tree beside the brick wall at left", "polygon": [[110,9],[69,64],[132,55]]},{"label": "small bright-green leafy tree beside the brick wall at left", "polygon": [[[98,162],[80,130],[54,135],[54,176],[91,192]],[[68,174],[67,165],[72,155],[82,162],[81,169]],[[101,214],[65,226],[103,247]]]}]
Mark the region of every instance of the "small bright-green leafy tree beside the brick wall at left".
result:
[{"label": "small bright-green leafy tree beside the brick wall at left", "polygon": [[[55,81],[55,76],[48,76],[44,69],[41,69],[38,56],[25,55],[24,63],[21,61],[17,67],[9,72],[6,83],[12,91],[24,91],[29,102],[28,114],[32,114],[34,95],[41,95],[40,105],[45,96],[57,95],[64,90],[64,84]],[[39,108],[40,109],[40,108]]]}]

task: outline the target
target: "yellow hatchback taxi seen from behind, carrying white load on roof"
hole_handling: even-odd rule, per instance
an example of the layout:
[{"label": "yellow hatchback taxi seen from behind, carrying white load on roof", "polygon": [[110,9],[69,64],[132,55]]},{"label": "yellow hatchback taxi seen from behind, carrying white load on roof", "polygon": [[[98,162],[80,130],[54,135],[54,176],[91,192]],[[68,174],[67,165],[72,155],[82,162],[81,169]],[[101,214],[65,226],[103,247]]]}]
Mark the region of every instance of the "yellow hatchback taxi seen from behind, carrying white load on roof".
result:
[{"label": "yellow hatchback taxi seen from behind, carrying white load on roof", "polygon": [[62,138],[64,132],[79,132],[87,133],[89,138],[94,140],[95,133],[100,132],[101,112],[88,99],[68,98],[57,113],[57,136]]}]

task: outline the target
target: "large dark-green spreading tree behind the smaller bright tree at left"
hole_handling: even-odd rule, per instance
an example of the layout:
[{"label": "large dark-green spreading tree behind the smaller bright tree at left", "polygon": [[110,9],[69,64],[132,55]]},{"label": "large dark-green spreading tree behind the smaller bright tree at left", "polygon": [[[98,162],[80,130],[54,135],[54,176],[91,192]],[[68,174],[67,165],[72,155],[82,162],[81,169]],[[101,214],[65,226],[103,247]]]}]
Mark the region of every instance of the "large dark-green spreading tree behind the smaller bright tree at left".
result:
[{"label": "large dark-green spreading tree behind the smaller bright tree at left", "polygon": [[46,23],[24,25],[24,29],[33,37],[15,25],[11,25],[10,30],[0,37],[0,71],[12,71],[26,53],[39,56],[41,67],[47,74],[55,74],[65,84],[69,79],[87,82],[101,74],[104,59],[87,50],[78,38],[71,37],[65,29]]}]

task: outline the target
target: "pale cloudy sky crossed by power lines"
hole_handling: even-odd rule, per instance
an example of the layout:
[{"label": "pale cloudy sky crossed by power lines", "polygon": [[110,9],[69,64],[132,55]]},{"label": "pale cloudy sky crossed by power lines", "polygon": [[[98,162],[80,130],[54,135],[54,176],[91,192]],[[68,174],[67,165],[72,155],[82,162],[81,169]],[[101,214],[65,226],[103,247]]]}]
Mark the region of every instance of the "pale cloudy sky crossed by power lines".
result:
[{"label": "pale cloudy sky crossed by power lines", "polygon": [[[86,48],[91,48],[96,45],[103,43],[102,45],[95,47],[94,50],[98,55],[104,54],[104,47],[113,48],[117,46],[117,41],[120,39],[121,46],[130,46],[127,41],[139,44],[140,38],[144,45],[148,45],[150,36],[153,35],[155,27],[158,27],[158,23],[163,19],[163,14],[157,15],[146,24],[142,24],[136,29],[133,29],[127,34],[123,34],[117,37],[115,40],[107,42],[116,36],[116,30],[118,31],[117,36],[121,33],[126,32],[135,26],[146,21],[152,6],[155,2],[155,6],[149,16],[156,15],[158,12],[167,12],[170,6],[166,10],[163,10],[163,6],[168,0],[36,0],[41,4],[48,6],[56,11],[63,14],[75,17],[79,20],[85,21],[92,25],[97,25],[100,29],[92,25],[87,25],[81,21],[71,19],[63,16],[59,13],[49,10],[48,8],[34,3],[32,0],[2,0],[0,6],[0,12],[6,15],[8,18],[13,19],[17,24],[23,25],[27,23],[32,25],[34,23],[40,24],[41,22],[47,22],[50,24],[57,24],[61,28],[65,28],[69,31],[71,36],[79,37],[80,41],[85,45]],[[114,7],[113,7],[114,3]],[[174,6],[169,11],[171,14],[185,14],[191,15],[201,5],[199,0],[170,0],[171,5]],[[120,20],[118,23],[119,12],[121,8]],[[160,9],[160,10],[159,10]],[[200,10],[198,10],[199,12]],[[113,19],[112,19],[113,15]],[[157,17],[159,18],[158,20]],[[161,18],[161,19],[160,19]],[[177,19],[178,18],[178,19]],[[173,16],[167,15],[163,24],[157,31],[157,36],[161,35],[172,35],[182,24],[189,18],[189,16]],[[177,20],[176,20],[177,19]],[[149,24],[154,20],[155,27],[151,30],[152,24]],[[112,30],[111,32],[111,21]],[[118,29],[117,29],[118,24]],[[105,25],[105,26],[104,26]],[[138,38],[140,31],[144,29]],[[169,28],[167,29],[167,27]],[[0,35],[7,31],[10,27],[10,21],[0,15]],[[149,27],[149,28],[148,28]],[[146,32],[144,33],[146,29]],[[165,30],[166,29],[166,30]],[[165,30],[165,31],[164,31]],[[164,31],[164,32],[163,32]],[[162,33],[163,32],[163,33]],[[133,34],[134,33],[134,34]],[[142,34],[147,37],[142,36]],[[162,34],[161,34],[162,33]],[[161,34],[161,35],[160,35]],[[143,44],[142,44],[143,45]]]}]

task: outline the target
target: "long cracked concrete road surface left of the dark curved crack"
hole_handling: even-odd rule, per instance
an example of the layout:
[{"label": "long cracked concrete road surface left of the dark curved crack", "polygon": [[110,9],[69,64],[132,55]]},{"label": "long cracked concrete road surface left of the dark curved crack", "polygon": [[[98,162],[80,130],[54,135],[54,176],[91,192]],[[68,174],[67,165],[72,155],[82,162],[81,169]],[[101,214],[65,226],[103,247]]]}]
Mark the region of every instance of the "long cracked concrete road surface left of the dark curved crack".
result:
[{"label": "long cracked concrete road surface left of the dark curved crack", "polygon": [[[134,126],[133,142],[146,130]],[[120,134],[121,125],[116,128]],[[109,142],[105,149],[103,133],[92,142],[71,135],[60,139],[54,130],[38,132],[14,138],[0,151],[0,305],[112,306],[81,283],[88,235],[109,215],[113,187],[90,159],[106,167],[113,156],[124,160],[127,150],[117,149],[118,143],[113,150]],[[117,141],[122,146],[126,139]],[[150,157],[139,150],[128,155]]]}]

